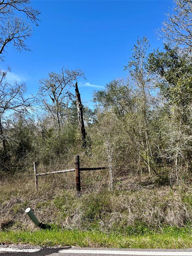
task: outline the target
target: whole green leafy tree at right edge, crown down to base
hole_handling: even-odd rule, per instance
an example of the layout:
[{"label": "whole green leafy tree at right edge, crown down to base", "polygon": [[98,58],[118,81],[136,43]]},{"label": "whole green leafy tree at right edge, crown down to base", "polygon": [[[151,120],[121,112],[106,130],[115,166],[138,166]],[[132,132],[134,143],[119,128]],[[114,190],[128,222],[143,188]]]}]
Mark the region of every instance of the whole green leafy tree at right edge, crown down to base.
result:
[{"label": "whole green leafy tree at right edge, crown down to base", "polygon": [[183,166],[188,165],[191,158],[191,58],[178,48],[165,45],[164,51],[156,50],[149,55],[148,70],[155,75],[156,86],[169,109],[170,114],[162,125],[164,157],[166,162],[174,163],[170,180],[178,182]]}]

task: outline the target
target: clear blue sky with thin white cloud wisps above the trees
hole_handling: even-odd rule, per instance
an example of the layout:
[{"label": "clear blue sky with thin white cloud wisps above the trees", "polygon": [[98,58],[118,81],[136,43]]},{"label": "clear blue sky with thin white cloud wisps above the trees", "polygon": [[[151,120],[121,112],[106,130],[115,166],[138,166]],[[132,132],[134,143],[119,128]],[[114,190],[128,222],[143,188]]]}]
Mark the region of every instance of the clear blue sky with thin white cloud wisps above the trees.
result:
[{"label": "clear blue sky with thin white cloud wisps above the trees", "polygon": [[11,67],[9,79],[25,81],[28,92],[38,81],[62,67],[85,70],[80,80],[82,99],[89,104],[93,90],[126,76],[126,65],[137,37],[147,36],[151,49],[162,48],[155,30],[161,28],[171,1],[32,1],[41,11],[38,27],[27,40],[31,52],[9,45],[1,68]]}]

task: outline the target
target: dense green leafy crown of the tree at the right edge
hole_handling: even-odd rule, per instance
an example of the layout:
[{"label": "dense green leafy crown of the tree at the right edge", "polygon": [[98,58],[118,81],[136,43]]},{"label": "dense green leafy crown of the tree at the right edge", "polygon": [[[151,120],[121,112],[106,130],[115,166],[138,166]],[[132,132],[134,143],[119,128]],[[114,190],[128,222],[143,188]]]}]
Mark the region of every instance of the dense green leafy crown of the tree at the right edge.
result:
[{"label": "dense green leafy crown of the tree at the right edge", "polygon": [[148,70],[158,76],[156,86],[170,104],[186,107],[192,100],[191,58],[169,45],[164,50],[149,54]]}]

